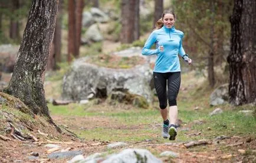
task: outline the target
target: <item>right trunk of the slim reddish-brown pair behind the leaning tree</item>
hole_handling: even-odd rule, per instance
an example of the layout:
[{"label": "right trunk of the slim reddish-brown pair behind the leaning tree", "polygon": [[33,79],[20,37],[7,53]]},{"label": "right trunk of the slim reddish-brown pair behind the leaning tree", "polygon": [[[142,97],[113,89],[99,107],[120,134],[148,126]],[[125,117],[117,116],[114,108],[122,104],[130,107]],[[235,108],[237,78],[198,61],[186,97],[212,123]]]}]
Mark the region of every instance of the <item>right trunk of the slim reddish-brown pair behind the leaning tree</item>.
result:
[{"label": "right trunk of the slim reddish-brown pair behind the leaning tree", "polygon": [[76,1],[76,54],[75,57],[78,58],[80,54],[80,45],[81,45],[81,29],[82,29],[82,18],[83,18],[83,8],[84,1]]}]

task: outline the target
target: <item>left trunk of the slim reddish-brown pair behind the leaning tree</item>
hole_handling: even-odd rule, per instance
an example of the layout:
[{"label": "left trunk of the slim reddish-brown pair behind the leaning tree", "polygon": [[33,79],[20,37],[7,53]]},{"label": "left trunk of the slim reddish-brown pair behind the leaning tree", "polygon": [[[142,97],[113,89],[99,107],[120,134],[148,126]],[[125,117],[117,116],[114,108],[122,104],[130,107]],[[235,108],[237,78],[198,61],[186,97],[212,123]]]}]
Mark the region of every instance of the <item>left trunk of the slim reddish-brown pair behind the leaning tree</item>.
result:
[{"label": "left trunk of the slim reddish-brown pair behind the leaning tree", "polygon": [[71,62],[76,55],[76,3],[74,0],[68,0],[68,57],[67,61]]}]

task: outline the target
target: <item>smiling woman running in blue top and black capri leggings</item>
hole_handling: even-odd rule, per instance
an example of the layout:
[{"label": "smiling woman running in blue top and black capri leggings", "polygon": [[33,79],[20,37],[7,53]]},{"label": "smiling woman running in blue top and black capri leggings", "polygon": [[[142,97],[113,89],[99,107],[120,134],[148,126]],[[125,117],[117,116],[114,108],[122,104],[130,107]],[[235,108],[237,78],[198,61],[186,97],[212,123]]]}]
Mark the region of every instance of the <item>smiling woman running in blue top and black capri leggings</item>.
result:
[{"label": "smiling woman running in blue top and black capri leggings", "polygon": [[[162,18],[156,22],[156,29],[150,34],[142,49],[142,55],[156,55],[155,68],[153,69],[153,81],[157,97],[159,99],[160,113],[163,118],[163,138],[175,140],[177,129],[175,122],[178,117],[176,98],[180,87],[180,63],[179,56],[189,65],[192,59],[185,53],[182,47],[182,31],[175,29],[175,14],[172,11],[164,11]],[[156,49],[150,49],[155,44]],[[168,94],[166,94],[166,82]],[[167,99],[169,103],[169,119]]]}]

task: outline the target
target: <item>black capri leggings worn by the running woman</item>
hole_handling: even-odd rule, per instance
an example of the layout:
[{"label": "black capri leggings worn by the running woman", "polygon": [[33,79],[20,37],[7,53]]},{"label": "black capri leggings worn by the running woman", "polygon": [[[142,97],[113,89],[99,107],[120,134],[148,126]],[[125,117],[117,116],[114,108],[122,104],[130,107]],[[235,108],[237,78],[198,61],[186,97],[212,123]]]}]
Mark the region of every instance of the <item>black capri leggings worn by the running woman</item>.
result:
[{"label": "black capri leggings worn by the running woman", "polygon": [[159,107],[167,107],[166,80],[168,81],[168,102],[169,107],[177,105],[176,98],[180,87],[180,72],[153,72],[153,81],[156,88],[156,94],[159,99]]}]

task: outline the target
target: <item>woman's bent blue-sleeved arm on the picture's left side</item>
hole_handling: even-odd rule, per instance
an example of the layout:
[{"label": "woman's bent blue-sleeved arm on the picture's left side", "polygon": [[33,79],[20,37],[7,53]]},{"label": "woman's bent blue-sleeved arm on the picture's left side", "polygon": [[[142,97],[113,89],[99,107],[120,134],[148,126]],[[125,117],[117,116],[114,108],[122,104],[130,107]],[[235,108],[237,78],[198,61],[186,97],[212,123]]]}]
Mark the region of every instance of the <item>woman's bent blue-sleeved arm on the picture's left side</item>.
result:
[{"label": "woman's bent blue-sleeved arm on the picture's left side", "polygon": [[155,32],[152,32],[149,35],[149,38],[147,38],[147,41],[144,45],[144,47],[142,48],[142,55],[154,55],[154,54],[159,54],[160,49],[159,47],[157,49],[150,49],[151,46],[155,43],[156,41],[156,36],[155,36]]}]

